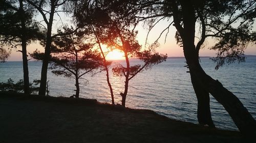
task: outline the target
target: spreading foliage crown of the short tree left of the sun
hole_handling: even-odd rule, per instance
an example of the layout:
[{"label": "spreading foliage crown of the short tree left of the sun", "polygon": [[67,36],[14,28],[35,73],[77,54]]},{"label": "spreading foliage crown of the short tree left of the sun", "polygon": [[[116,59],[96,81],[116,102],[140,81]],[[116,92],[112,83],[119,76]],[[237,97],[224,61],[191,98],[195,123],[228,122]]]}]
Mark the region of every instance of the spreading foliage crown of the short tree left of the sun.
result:
[{"label": "spreading foliage crown of the short tree left of the sun", "polygon": [[[72,28],[64,29],[64,33],[70,31],[73,31]],[[86,37],[83,37],[81,33],[82,32],[79,31],[53,40],[54,48],[51,54],[51,62],[53,62],[53,65],[51,69],[57,69],[58,67],[67,69],[67,71],[59,69],[53,70],[56,74],[69,76],[77,71],[78,75],[83,75],[84,73],[102,66],[100,54],[92,50],[92,44],[85,43]]]}]

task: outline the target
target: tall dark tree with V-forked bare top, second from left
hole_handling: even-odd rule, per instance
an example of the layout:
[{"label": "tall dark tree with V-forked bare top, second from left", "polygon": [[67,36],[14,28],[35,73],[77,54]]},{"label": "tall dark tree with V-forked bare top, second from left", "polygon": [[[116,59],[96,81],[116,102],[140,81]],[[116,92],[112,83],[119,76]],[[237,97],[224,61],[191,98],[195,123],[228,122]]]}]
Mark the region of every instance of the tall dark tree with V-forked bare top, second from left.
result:
[{"label": "tall dark tree with V-forked bare top, second from left", "polygon": [[45,54],[44,60],[42,61],[42,69],[41,69],[41,79],[40,79],[40,89],[39,95],[46,94],[46,82],[47,82],[47,69],[48,63],[50,60],[50,53],[51,53],[51,44],[52,39],[57,37],[58,35],[52,35],[52,26],[54,20],[54,14],[59,12],[63,12],[59,8],[63,6],[67,0],[25,0],[27,1],[32,7],[34,7],[44,19],[46,23],[46,36],[44,42],[42,44],[45,46]]}]

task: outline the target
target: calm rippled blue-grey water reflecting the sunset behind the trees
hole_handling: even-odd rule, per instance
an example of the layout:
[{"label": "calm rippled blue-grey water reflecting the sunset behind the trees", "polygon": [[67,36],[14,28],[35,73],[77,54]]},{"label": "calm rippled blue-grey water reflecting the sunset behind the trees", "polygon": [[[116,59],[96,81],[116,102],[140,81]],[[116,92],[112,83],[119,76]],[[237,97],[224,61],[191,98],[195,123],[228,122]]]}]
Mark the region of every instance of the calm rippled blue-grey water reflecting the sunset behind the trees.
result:
[{"label": "calm rippled blue-grey water reflecting the sunset behind the trees", "polygon": [[[124,63],[124,61],[115,61]],[[113,64],[115,64],[115,62]],[[139,73],[130,81],[126,106],[131,108],[151,109],[169,118],[197,122],[197,99],[186,73],[185,59],[167,59],[166,62],[154,66],[150,70]],[[140,64],[138,60],[131,60],[131,64]],[[256,58],[247,58],[240,64],[226,65],[218,71],[215,64],[206,58],[201,59],[206,73],[218,79],[224,87],[234,93],[256,119]],[[29,62],[30,81],[40,79],[41,62]],[[123,92],[123,77],[113,77],[111,83],[114,90],[115,102],[121,103],[120,92]],[[23,78],[22,62],[0,63],[0,82],[8,78]],[[100,102],[111,102],[105,72],[94,76],[87,74],[80,80],[80,96],[97,99]],[[49,90],[51,96],[69,97],[74,94],[75,81],[71,78],[55,76],[48,73]],[[136,89],[135,89],[136,88]],[[237,130],[231,118],[214,98],[210,98],[212,119],[217,127]]]}]

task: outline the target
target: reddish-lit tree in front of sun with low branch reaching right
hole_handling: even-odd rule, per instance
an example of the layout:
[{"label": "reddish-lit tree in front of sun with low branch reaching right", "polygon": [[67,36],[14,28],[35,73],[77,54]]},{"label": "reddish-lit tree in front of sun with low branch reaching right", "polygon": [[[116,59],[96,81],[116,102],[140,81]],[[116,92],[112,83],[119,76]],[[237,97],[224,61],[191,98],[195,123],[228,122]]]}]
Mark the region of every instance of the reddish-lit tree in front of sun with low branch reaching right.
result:
[{"label": "reddish-lit tree in front of sun with low branch reaching right", "polygon": [[[133,27],[136,21],[126,14],[132,8],[122,1],[76,1],[75,6],[74,17],[78,26],[93,24],[100,33],[97,35],[99,41],[124,52],[126,66],[117,65],[112,71],[115,75],[125,76],[124,92],[120,94],[122,105],[125,106],[129,80],[143,69],[165,61],[166,55],[152,53],[151,50],[140,52],[141,46],[135,39],[137,32],[134,32]],[[143,60],[144,65],[130,66],[131,56]]]}]

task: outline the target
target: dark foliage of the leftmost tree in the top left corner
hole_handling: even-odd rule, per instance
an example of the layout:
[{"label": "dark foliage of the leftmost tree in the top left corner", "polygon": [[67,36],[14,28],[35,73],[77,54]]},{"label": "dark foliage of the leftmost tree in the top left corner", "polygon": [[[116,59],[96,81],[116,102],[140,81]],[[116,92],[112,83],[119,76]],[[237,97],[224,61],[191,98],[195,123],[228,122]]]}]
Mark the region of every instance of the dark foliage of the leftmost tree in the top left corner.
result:
[{"label": "dark foliage of the leftmost tree in the top left corner", "polygon": [[[2,46],[8,45],[11,48],[21,46],[22,37],[25,37],[27,43],[42,38],[40,26],[33,20],[34,11],[26,4],[23,9],[21,10],[15,1],[0,1],[0,44]],[[20,22],[21,16],[25,19],[25,27],[22,27]]]}]

